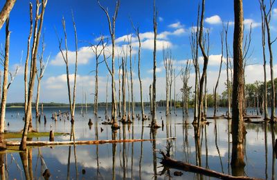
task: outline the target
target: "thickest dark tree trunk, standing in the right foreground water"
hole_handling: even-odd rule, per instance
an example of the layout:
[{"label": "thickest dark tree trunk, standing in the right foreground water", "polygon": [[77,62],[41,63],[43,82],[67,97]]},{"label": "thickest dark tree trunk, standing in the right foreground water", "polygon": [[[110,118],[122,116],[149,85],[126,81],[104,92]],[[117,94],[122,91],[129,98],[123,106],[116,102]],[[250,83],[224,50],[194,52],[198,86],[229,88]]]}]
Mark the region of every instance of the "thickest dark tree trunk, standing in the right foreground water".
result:
[{"label": "thickest dark tree trunk, standing in the right foreground water", "polygon": [[235,26],[233,33],[233,99],[232,99],[232,167],[244,167],[243,148],[243,8],[242,0],[234,0]]}]

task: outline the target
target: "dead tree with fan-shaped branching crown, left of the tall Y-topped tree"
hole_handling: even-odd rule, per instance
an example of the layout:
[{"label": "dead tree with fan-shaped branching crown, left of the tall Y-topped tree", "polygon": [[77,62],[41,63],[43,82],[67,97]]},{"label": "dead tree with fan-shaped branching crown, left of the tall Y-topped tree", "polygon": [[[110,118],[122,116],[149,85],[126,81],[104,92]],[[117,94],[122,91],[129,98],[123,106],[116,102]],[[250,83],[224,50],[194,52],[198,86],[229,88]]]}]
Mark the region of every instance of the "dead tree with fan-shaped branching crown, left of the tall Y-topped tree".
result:
[{"label": "dead tree with fan-shaped branching crown, left of the tall Y-topped tree", "polygon": [[102,39],[98,41],[96,44],[91,46],[91,49],[93,50],[93,53],[96,57],[96,70],[95,70],[96,74],[95,74],[95,83],[94,83],[94,106],[93,106],[93,114],[96,116],[98,113],[98,66],[100,63],[103,62],[103,61],[99,61],[99,57],[102,54],[103,49],[105,48],[105,47],[100,48],[100,45],[102,45]]}]

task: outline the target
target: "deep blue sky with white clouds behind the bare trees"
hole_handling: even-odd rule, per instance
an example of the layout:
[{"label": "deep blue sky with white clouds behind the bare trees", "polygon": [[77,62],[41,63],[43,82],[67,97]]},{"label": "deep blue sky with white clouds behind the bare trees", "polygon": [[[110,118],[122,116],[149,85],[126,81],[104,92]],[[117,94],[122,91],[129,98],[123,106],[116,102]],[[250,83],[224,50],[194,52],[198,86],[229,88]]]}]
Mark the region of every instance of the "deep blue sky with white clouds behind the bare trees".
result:
[{"label": "deep blue sky with white clouds behind the bare trees", "polygon": [[[8,90],[8,103],[24,102],[24,63],[26,59],[27,39],[30,28],[29,2],[33,3],[35,12],[35,1],[17,1],[10,13],[10,72],[15,72],[20,67],[15,80]],[[0,2],[3,7],[4,1]],[[102,6],[108,9],[109,14],[114,14],[115,0],[100,0]],[[165,68],[163,66],[163,46],[168,46],[172,50],[172,59],[176,74],[179,74],[182,67],[186,66],[186,61],[191,59],[190,52],[190,32],[191,27],[197,22],[197,0],[157,0],[158,10],[158,41],[157,41],[157,100],[166,99]],[[262,46],[261,46],[261,19],[260,5],[258,0],[244,0],[244,32],[249,33],[252,23],[252,41],[247,60],[246,82],[262,81]],[[73,12],[78,34],[78,77],[77,77],[77,103],[84,102],[84,94],[87,94],[87,102],[93,102],[94,75],[96,60],[91,44],[96,44],[100,34],[109,36],[109,26],[105,13],[98,6],[96,0],[48,0],[44,15],[43,34],[45,43],[44,61],[49,57],[48,65],[42,78],[40,102],[60,102],[68,103],[66,89],[66,66],[59,50],[58,38],[64,39],[62,29],[62,17],[66,20],[66,33],[69,46],[69,70],[74,73],[75,40],[71,13]],[[141,77],[143,82],[143,99],[148,101],[149,86],[152,82],[153,68],[153,1],[150,0],[121,0],[116,19],[116,49],[121,51],[125,47],[127,36],[132,36],[132,63],[134,74],[134,97],[139,101],[139,77],[137,68],[138,41],[134,35],[130,19],[134,26],[139,26],[142,51],[141,51]],[[222,23],[229,22],[229,50],[232,51],[233,44],[233,1],[206,1],[206,12],[204,27],[210,31],[210,58],[208,62],[208,93],[213,92],[220,68],[221,43],[220,32]],[[271,20],[271,37],[277,36],[277,7],[274,6]],[[33,41],[33,39],[32,39]],[[0,30],[1,50],[5,44],[5,28]],[[110,44],[107,45],[110,49]],[[62,46],[64,49],[64,46]],[[273,45],[274,57],[276,57],[276,45]],[[225,51],[225,50],[224,50]],[[42,46],[39,46],[39,54]],[[117,53],[116,53],[117,54]],[[224,57],[226,54],[224,53]],[[102,56],[100,56],[102,59]],[[267,54],[268,59],[268,54]],[[108,60],[109,66],[110,59]],[[128,62],[129,69],[129,62]],[[269,66],[269,65],[268,65]],[[267,66],[267,72],[269,67]],[[200,69],[202,61],[200,57]],[[3,67],[1,67],[3,70]],[[274,61],[274,70],[276,62]],[[105,88],[108,75],[105,63],[99,66],[99,101],[105,101]],[[267,73],[269,78],[269,73]],[[189,85],[193,86],[195,78],[193,66],[190,68]],[[220,78],[219,92],[225,90],[226,65],[222,65],[222,75]],[[73,75],[71,75],[71,84]],[[111,77],[109,77],[109,84]],[[181,98],[182,83],[181,78],[176,78],[176,92]],[[71,86],[73,87],[73,86]],[[35,92],[36,92],[35,85]],[[118,90],[118,61],[116,57],[116,89]],[[111,97],[109,85],[109,99]],[[173,90],[172,90],[173,92]],[[34,97],[35,99],[35,97]]]}]

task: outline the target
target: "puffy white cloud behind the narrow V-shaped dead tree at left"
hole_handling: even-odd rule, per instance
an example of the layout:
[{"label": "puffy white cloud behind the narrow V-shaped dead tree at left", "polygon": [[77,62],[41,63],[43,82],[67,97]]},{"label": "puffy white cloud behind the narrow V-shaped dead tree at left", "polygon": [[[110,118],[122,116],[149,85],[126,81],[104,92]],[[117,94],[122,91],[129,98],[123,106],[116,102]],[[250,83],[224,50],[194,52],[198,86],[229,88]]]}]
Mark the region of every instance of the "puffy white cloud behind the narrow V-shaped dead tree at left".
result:
[{"label": "puffy white cloud behind the narrow V-shaped dead tree at left", "polygon": [[[65,50],[63,50],[65,56]],[[78,50],[78,64],[87,64],[89,59],[93,57],[93,52],[89,47],[82,47]],[[68,51],[69,65],[75,64],[75,51]],[[62,58],[62,53],[58,52],[55,58],[50,61],[53,66],[64,66],[64,59]]]}]

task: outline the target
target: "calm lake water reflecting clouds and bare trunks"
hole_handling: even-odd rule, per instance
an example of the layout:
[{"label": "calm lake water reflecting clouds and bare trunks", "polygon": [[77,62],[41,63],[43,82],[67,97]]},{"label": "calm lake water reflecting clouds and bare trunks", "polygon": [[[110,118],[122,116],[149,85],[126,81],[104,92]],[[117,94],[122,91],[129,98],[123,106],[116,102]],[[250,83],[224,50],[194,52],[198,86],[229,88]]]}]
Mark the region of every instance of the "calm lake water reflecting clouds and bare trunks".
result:
[{"label": "calm lake water reflecting clouds and bare trunks", "polygon": [[[33,119],[33,128],[39,132],[71,132],[71,123],[65,117],[55,122],[51,119],[53,112],[69,111],[68,108],[44,108],[47,123],[44,125]],[[98,116],[92,115],[91,108],[84,117],[80,114],[80,108],[75,112],[75,139],[95,140],[112,139],[110,126],[102,125],[105,121],[104,108],[100,108]],[[250,112],[251,110],[249,110]],[[145,113],[148,114],[146,108]],[[220,109],[218,114],[225,113],[226,109]],[[139,108],[137,113],[139,113]],[[208,110],[211,115],[213,110]],[[157,150],[170,148],[173,159],[196,164],[196,145],[194,139],[194,128],[191,124],[184,125],[184,121],[191,123],[193,112],[190,117],[183,119],[181,109],[177,110],[177,116],[173,113],[166,117],[163,108],[157,110],[157,121],[164,128],[157,130],[156,138],[177,137],[174,141],[144,141],[136,143],[102,144],[91,146],[55,146],[53,148],[33,148],[28,150],[28,168],[22,165],[21,159],[28,158],[27,154],[19,155],[19,152],[8,152],[2,157],[5,162],[6,179],[44,179],[42,173],[47,168],[51,172],[50,179],[213,179],[203,177],[193,172],[183,172],[181,177],[175,177],[175,169],[163,172],[159,163],[161,155]],[[19,131],[24,126],[23,108],[8,108],[6,112],[6,123],[10,123],[8,131]],[[93,121],[91,129],[87,125],[89,118]],[[162,120],[161,120],[162,119]],[[209,119],[211,123],[202,126],[202,135],[199,141],[201,150],[201,166],[217,172],[232,174],[231,162],[231,121],[226,119]],[[116,139],[151,139],[152,133],[148,124],[150,121],[134,120],[131,125],[122,125],[116,133]],[[274,179],[277,172],[275,156],[273,154],[272,141],[275,141],[276,127],[270,124],[246,124],[247,134],[244,152],[244,175],[261,179]],[[274,132],[275,129],[275,132]],[[102,130],[102,132],[101,132]],[[69,141],[70,136],[55,137],[55,141]],[[34,138],[33,141],[48,141],[48,137]],[[199,163],[199,162],[198,162]],[[199,164],[200,165],[200,164]],[[85,173],[82,173],[84,172]]]}]

